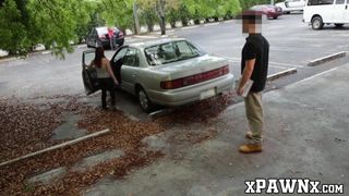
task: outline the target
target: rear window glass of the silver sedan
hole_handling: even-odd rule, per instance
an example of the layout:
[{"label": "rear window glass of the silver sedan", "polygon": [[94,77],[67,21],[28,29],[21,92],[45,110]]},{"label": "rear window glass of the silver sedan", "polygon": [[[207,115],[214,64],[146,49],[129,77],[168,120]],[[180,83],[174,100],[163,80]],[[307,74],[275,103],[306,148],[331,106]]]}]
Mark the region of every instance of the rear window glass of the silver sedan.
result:
[{"label": "rear window glass of the silver sedan", "polygon": [[202,53],[200,49],[185,40],[156,45],[145,49],[145,56],[151,65],[182,61]]}]

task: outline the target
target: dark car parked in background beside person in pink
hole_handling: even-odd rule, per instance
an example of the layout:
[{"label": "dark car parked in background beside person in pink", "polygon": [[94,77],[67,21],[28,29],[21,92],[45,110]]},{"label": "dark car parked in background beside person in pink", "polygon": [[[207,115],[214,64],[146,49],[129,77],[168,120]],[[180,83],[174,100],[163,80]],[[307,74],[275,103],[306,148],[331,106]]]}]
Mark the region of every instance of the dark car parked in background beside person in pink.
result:
[{"label": "dark car parked in background beside person in pink", "polygon": [[[122,46],[124,42],[123,33],[117,27],[111,27],[113,30],[113,36],[116,37],[116,42],[119,46]],[[95,27],[86,37],[87,47],[97,47],[110,48],[110,38],[108,35],[108,27]]]}]

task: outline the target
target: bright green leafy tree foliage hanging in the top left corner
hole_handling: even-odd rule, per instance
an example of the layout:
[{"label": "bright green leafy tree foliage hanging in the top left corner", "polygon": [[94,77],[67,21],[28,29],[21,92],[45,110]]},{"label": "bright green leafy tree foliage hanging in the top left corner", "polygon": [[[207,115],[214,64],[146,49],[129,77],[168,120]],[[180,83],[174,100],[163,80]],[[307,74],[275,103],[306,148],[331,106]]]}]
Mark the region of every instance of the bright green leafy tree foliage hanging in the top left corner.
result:
[{"label": "bright green leafy tree foliage hanging in the top left corner", "polygon": [[44,44],[53,54],[72,52],[79,25],[88,23],[85,0],[7,0],[0,9],[0,48],[26,54]]}]

